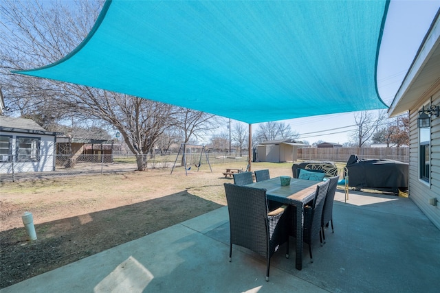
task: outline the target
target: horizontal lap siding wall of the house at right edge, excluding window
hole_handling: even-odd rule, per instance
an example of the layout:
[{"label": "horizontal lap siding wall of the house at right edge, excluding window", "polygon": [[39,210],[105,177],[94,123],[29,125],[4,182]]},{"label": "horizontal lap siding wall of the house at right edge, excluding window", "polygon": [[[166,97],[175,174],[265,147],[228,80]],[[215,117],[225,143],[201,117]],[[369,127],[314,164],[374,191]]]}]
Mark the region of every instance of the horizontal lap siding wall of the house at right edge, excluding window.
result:
[{"label": "horizontal lap siding wall of the house at right edge, excluding window", "polygon": [[429,204],[430,198],[440,200],[440,117],[432,116],[430,128],[430,182],[420,179],[419,128],[417,118],[421,105],[431,100],[432,105],[440,105],[440,86],[432,97],[421,100],[417,107],[410,109],[410,168],[409,197],[423,213],[440,229],[440,203]]}]

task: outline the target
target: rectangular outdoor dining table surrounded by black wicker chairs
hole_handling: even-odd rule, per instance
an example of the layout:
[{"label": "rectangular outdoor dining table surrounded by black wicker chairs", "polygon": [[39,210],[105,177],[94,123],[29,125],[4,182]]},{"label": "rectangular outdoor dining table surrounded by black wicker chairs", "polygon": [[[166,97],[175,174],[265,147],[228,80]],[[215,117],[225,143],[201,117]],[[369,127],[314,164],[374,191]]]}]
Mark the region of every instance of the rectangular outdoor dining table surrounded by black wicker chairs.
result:
[{"label": "rectangular outdoor dining table surrounded by black wicker chairs", "polygon": [[[291,178],[290,185],[281,186],[279,177],[259,181],[246,186],[266,189],[267,200],[290,204],[296,207],[296,264],[298,270],[303,268],[303,228],[304,207],[314,199],[316,187],[322,181]],[[293,223],[292,223],[293,224]]]}]

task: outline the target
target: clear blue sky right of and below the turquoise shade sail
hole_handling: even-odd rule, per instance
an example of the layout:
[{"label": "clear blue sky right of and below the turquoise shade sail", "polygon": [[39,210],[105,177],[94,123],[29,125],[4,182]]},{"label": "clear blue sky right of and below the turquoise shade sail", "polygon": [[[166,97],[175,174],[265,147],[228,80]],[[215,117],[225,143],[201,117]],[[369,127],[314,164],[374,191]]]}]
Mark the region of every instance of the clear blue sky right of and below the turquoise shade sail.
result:
[{"label": "clear blue sky right of and below the turquoise shade sail", "polygon": [[[377,64],[377,89],[389,106],[428,32],[440,0],[391,0]],[[377,111],[375,111],[377,112]],[[300,140],[345,143],[355,129],[354,113],[283,120]],[[256,125],[252,126],[255,131]],[[323,131],[326,130],[326,131]]]}]

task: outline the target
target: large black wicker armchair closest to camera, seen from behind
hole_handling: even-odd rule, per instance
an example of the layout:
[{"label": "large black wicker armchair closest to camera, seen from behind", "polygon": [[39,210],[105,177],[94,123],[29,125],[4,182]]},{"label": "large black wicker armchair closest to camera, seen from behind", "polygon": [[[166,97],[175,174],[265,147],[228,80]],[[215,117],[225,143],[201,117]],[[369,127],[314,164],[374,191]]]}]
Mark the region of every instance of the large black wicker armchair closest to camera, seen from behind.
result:
[{"label": "large black wicker armchair closest to camera, seen from behind", "polygon": [[229,261],[232,244],[248,248],[267,259],[266,281],[269,281],[270,258],[285,242],[289,257],[288,206],[268,212],[265,189],[224,185],[230,221]]}]

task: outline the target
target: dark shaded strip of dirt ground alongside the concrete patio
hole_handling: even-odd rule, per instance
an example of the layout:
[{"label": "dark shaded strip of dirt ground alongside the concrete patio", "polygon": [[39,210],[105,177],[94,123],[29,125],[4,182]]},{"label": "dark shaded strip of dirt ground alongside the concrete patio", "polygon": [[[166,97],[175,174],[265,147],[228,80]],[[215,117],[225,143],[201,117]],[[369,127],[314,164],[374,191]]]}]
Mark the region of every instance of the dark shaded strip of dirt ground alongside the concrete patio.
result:
[{"label": "dark shaded strip of dirt ground alongside the concrete patio", "polygon": [[[178,207],[178,208],[177,208]],[[186,191],[1,232],[1,288],[196,217],[221,205]],[[172,216],[171,216],[172,215]]]}]

